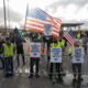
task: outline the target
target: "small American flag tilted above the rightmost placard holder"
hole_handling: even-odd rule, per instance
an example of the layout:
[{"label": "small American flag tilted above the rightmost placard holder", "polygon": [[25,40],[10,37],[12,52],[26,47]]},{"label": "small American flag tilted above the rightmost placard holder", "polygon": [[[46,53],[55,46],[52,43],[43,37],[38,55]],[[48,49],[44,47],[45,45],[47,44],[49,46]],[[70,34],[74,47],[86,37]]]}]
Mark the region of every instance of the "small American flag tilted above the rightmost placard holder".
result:
[{"label": "small American flag tilted above the rightmost placard holder", "polygon": [[75,41],[74,41],[74,34],[73,34],[73,31],[69,30],[65,35],[64,37],[68,41],[68,43],[70,45],[74,45]]}]

